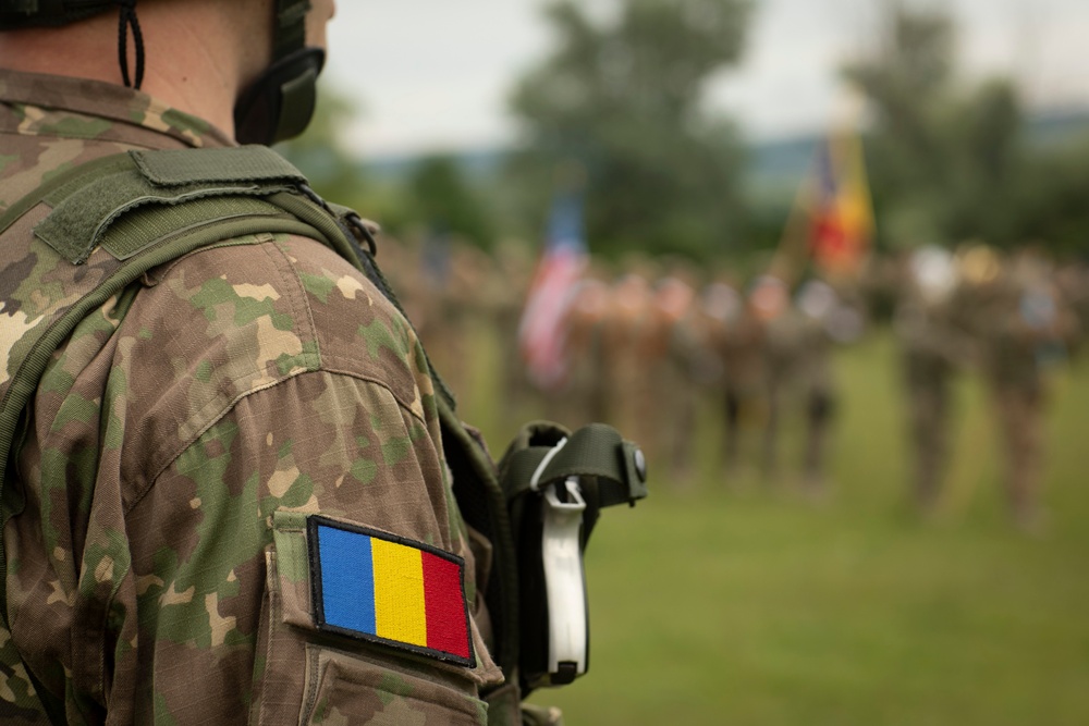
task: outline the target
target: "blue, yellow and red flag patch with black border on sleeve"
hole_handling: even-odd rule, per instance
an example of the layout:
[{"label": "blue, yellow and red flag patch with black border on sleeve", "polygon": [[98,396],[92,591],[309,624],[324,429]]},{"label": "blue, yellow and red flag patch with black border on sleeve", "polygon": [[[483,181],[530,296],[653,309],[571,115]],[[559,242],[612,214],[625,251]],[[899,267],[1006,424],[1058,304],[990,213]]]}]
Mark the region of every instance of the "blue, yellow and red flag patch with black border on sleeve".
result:
[{"label": "blue, yellow and red flag patch with black border on sleeve", "polygon": [[464,559],[318,516],[307,518],[307,534],[319,629],[476,665]]}]

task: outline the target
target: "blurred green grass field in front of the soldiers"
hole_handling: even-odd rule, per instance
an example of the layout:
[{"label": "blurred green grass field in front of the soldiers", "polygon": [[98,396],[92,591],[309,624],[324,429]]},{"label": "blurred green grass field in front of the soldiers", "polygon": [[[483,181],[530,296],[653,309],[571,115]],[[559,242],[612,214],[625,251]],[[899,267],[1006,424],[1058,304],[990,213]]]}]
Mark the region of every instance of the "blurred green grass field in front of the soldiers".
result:
[{"label": "blurred green grass field in front of the soldiers", "polygon": [[[595,725],[1089,724],[1089,366],[1053,376],[1039,534],[1006,516],[978,381],[958,385],[943,506],[923,521],[891,341],[843,350],[836,372],[830,496],[724,481],[708,419],[696,487],[652,481],[603,516],[590,673],[534,702]],[[499,447],[491,403],[463,413]]]}]

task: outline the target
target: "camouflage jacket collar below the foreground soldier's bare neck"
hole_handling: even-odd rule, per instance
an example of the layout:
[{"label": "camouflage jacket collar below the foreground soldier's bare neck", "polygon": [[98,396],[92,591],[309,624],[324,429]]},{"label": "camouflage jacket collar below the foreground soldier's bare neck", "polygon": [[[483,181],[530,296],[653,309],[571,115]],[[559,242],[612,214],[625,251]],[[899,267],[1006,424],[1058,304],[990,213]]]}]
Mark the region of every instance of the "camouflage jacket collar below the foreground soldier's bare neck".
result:
[{"label": "camouflage jacket collar below the foreground soldier's bare neck", "polygon": [[[27,113],[19,127],[23,134],[87,136],[93,133],[87,126],[81,132],[78,124],[71,124],[65,128],[59,123],[57,114],[72,114],[99,122],[113,122],[119,136],[125,135],[125,128],[130,132],[144,130],[170,136],[192,147],[236,145],[230,136],[207,121],[172,109],[142,91],[101,81],[0,70],[0,103],[21,104],[49,112],[38,114],[50,116],[40,121],[36,120],[35,114]],[[108,132],[94,136],[114,138]]]}]

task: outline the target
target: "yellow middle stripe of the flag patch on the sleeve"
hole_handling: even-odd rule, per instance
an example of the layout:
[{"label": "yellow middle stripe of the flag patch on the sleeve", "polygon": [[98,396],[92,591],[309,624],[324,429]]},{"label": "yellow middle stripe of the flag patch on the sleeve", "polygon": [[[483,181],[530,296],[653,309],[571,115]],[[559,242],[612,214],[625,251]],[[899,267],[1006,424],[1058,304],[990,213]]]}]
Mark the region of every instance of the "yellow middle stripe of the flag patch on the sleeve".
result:
[{"label": "yellow middle stripe of the flag patch on the sleeve", "polygon": [[419,550],[371,538],[375,629],[379,638],[427,647],[424,565]]}]

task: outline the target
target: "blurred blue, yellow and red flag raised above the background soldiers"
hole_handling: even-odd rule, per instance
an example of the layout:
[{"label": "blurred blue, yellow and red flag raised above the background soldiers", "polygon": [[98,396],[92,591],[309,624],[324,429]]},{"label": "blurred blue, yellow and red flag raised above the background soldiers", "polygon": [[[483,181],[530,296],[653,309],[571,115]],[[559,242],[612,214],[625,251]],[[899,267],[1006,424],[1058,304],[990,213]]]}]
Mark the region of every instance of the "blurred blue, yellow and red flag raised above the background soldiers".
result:
[{"label": "blurred blue, yellow and red flag raised above the background soldiers", "polygon": [[830,137],[817,152],[809,188],[809,251],[832,275],[858,272],[873,236],[862,147],[854,134]]}]

